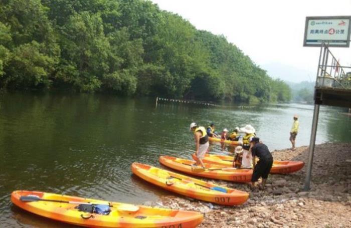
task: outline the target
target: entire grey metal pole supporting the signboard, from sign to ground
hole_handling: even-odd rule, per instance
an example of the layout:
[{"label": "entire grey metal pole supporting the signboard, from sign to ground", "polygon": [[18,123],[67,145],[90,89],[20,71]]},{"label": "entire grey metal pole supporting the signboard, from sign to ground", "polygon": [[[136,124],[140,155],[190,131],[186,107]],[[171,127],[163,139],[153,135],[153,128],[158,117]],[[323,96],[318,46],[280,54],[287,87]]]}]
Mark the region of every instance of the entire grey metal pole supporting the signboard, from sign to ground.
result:
[{"label": "entire grey metal pole supporting the signboard, from sign to ground", "polygon": [[[317,80],[318,80],[320,66],[321,66],[320,60],[322,57],[322,49],[323,49],[322,46],[323,44],[320,46],[320,51],[319,51],[316,85],[317,85]],[[325,50],[326,48],[324,47],[322,64],[324,63],[324,59],[325,59]],[[321,74],[322,74],[322,71],[321,71]],[[315,96],[315,91],[314,91],[314,96]],[[314,99],[316,99],[316,97],[314,97]],[[305,185],[303,187],[305,191],[309,190],[309,182],[311,180],[313,152],[314,152],[314,145],[315,145],[315,139],[316,139],[316,133],[317,133],[318,115],[319,115],[319,104],[314,104],[311,137],[310,137],[309,149],[308,149],[307,172],[306,172]]]}]

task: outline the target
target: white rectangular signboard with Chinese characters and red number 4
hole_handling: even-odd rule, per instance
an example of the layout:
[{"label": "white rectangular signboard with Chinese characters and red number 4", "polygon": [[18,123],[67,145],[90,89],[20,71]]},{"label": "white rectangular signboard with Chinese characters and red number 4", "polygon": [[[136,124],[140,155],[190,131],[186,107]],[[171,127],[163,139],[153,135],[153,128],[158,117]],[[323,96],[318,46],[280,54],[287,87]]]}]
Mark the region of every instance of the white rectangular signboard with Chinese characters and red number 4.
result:
[{"label": "white rectangular signboard with Chinese characters and red number 4", "polygon": [[351,16],[307,16],[303,45],[349,47],[350,22]]}]

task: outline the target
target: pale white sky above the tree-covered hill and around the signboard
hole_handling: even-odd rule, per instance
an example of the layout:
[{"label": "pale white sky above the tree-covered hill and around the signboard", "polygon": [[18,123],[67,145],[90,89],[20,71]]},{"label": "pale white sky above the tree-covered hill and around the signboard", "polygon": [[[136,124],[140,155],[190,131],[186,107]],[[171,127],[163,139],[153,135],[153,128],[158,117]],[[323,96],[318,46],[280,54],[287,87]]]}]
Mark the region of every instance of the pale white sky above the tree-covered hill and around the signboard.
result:
[{"label": "pale white sky above the tree-covered hill and around the signboard", "polygon": [[[151,0],[197,29],[223,34],[273,78],[315,81],[319,47],[303,47],[306,16],[351,15],[351,0]],[[351,47],[333,47],[351,66]]]}]

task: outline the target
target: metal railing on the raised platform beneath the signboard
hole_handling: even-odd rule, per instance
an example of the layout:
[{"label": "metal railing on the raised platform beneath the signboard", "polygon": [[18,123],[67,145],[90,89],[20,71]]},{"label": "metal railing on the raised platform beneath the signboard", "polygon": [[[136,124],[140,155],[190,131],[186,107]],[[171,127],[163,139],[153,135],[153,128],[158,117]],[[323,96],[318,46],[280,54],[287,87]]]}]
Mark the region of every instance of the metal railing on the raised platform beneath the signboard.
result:
[{"label": "metal railing on the raised platform beneath the signboard", "polygon": [[327,43],[320,47],[316,87],[351,89],[351,66],[342,66]]}]

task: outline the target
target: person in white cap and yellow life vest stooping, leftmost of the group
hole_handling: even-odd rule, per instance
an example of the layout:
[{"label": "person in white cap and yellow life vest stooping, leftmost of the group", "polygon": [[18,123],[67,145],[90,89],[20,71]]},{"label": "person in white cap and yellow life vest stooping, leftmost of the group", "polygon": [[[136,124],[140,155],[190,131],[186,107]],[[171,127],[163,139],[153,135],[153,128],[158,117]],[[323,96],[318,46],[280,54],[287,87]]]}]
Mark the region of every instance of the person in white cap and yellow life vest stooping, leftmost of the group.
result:
[{"label": "person in white cap and yellow life vest stooping, leftmost of the group", "polygon": [[206,129],[203,126],[198,126],[195,122],[190,124],[190,130],[194,132],[194,138],[196,143],[196,152],[193,154],[196,165],[205,167],[204,159],[205,154],[209,148],[209,135],[207,135]]}]

